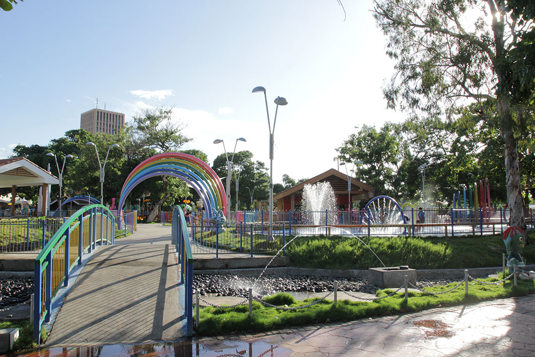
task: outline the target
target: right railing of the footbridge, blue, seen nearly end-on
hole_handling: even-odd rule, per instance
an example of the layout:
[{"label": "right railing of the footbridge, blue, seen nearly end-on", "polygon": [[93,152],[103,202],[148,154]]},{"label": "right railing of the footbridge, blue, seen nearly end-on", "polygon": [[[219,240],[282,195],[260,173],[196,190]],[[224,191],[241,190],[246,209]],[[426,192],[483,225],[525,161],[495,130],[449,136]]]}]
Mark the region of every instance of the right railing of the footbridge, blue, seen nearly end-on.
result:
[{"label": "right railing of the footbridge, blue, seen nearly end-on", "polygon": [[180,262],[180,284],[184,284],[185,289],[182,306],[185,307],[186,312],[187,336],[191,336],[193,334],[193,254],[189,243],[186,217],[180,206],[173,208],[171,237]]}]

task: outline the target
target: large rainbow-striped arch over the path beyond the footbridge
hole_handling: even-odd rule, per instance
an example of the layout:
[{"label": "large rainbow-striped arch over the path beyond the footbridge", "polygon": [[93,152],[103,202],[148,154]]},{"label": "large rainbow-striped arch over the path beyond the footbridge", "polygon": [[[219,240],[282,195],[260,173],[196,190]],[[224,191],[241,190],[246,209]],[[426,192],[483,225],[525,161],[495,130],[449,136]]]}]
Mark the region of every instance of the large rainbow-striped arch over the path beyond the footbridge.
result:
[{"label": "large rainbow-striped arch over the path beyond the footbridge", "polygon": [[123,184],[118,210],[123,209],[135,186],[155,176],[172,176],[186,181],[200,196],[208,217],[220,209],[226,211],[225,189],[216,172],[201,159],[184,153],[158,154],[137,165]]}]

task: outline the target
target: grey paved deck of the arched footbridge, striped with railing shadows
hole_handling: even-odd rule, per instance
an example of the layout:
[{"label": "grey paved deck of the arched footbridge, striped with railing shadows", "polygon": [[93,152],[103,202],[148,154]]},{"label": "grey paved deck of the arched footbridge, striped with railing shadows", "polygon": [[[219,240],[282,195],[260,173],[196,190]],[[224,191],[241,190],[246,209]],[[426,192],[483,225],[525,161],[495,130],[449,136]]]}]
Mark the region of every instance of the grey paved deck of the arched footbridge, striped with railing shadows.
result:
[{"label": "grey paved deck of the arched footbridge, striped with railing shadows", "polygon": [[170,228],[138,225],[97,249],[52,326],[47,345],[95,345],[182,337],[178,268]]}]

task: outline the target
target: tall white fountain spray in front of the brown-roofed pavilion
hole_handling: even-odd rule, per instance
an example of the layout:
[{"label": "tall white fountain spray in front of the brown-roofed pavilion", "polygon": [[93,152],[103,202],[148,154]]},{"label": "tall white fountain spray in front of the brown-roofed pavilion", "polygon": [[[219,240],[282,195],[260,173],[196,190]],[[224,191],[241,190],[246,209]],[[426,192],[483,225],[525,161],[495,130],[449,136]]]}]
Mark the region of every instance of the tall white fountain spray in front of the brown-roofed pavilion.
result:
[{"label": "tall white fountain spray in front of the brown-roofed pavilion", "polygon": [[306,224],[330,225],[336,224],[336,217],[327,217],[325,211],[336,211],[336,196],[330,183],[318,182],[303,187],[303,212]]}]

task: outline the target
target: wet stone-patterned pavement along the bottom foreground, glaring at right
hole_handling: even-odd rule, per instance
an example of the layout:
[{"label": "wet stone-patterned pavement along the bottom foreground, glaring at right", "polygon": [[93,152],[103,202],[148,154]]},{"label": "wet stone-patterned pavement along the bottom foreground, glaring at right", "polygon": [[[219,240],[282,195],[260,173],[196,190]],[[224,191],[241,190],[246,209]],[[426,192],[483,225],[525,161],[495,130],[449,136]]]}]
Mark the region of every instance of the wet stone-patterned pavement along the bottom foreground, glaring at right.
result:
[{"label": "wet stone-patterned pavement along the bottom foreground, glaring at right", "polygon": [[12,356],[533,356],[535,295],[178,343],[50,347]]}]

